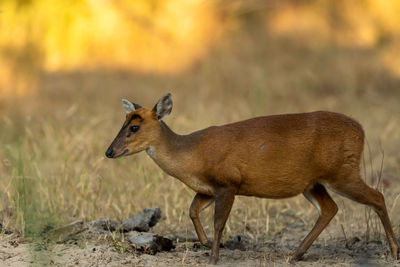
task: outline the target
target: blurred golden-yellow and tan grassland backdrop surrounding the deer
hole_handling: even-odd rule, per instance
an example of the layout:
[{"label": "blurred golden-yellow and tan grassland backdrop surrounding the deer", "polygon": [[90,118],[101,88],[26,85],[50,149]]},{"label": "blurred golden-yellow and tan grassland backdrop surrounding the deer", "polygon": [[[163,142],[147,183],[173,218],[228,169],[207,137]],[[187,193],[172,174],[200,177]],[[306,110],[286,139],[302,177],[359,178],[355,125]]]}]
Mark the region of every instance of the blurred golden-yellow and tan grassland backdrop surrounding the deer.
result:
[{"label": "blurred golden-yellow and tan grassland backdrop surrounding the deer", "polygon": [[[165,121],[180,134],[321,109],[357,119],[364,177],[384,191],[399,234],[399,14],[397,0],[2,0],[3,225],[35,234],[157,205],[159,231],[194,235],[190,189],[144,153],[104,157],[125,118],[121,98],[151,108],[171,92]],[[332,229],[372,229],[364,208],[337,199]],[[312,225],[307,205],[239,197],[226,231],[261,238],[292,219]]]}]

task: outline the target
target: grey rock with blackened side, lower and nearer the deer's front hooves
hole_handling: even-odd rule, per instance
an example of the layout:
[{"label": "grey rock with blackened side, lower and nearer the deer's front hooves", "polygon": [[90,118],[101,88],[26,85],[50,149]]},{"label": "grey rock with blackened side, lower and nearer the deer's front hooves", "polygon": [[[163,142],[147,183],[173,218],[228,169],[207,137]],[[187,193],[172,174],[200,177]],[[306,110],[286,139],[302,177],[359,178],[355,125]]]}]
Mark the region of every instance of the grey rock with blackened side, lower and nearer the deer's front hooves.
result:
[{"label": "grey rock with blackened side, lower and nearer the deer's front hooves", "polygon": [[172,240],[153,233],[132,231],[128,233],[128,239],[135,249],[151,255],[175,248]]}]

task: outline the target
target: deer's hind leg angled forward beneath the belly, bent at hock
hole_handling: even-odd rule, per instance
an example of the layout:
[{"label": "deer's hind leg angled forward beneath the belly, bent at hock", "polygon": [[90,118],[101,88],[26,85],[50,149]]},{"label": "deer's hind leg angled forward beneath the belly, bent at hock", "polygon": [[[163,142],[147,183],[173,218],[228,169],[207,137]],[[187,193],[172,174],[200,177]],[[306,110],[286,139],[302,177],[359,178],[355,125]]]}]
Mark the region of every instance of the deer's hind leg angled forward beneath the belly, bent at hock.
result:
[{"label": "deer's hind leg angled forward beneath the belly, bent at hock", "polygon": [[321,184],[315,184],[311,190],[304,192],[303,195],[318,209],[319,217],[311,232],[304,238],[299,248],[292,255],[292,262],[302,258],[304,253],[306,253],[314,240],[329,224],[338,210],[336,203]]}]

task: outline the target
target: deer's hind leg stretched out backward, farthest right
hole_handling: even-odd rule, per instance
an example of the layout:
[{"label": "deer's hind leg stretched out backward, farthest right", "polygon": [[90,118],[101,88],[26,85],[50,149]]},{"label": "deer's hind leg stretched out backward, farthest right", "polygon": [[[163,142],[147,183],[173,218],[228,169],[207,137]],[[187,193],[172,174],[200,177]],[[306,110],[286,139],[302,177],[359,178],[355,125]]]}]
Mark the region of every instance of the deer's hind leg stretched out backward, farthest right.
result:
[{"label": "deer's hind leg stretched out backward, farthest right", "polygon": [[398,259],[399,245],[397,244],[393,233],[392,224],[390,223],[383,195],[379,191],[365,184],[359,173],[339,176],[338,179],[330,182],[329,186],[332,187],[333,191],[374,209],[383,224],[383,228],[385,229],[392,257],[395,260]]}]

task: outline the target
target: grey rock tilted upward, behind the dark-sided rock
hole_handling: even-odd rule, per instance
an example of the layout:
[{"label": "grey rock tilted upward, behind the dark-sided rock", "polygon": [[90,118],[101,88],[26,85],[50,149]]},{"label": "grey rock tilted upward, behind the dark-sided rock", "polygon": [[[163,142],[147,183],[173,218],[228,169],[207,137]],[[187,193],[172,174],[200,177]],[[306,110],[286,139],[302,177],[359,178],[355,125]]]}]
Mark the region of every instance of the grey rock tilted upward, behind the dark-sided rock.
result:
[{"label": "grey rock tilted upward, behind the dark-sided rock", "polygon": [[124,232],[139,231],[147,232],[161,218],[161,210],[159,207],[143,209],[139,215],[134,215],[129,219],[121,222],[121,229]]}]

